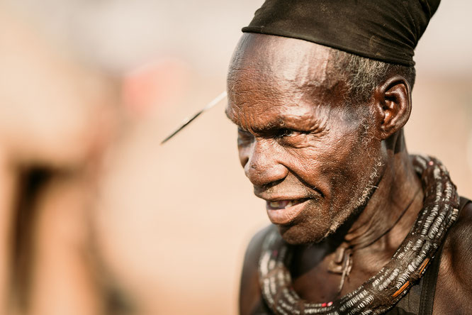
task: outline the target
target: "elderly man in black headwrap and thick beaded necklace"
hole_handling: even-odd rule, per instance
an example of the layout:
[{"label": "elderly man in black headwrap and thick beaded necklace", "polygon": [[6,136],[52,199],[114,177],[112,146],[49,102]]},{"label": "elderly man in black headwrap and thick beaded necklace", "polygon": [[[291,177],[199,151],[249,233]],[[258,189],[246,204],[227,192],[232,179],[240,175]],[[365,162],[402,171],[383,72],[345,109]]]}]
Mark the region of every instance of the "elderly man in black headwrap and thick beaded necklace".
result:
[{"label": "elderly man in black headwrap and thick beaded necklace", "polygon": [[403,135],[438,5],[267,0],[243,28],[226,112],[273,224],[241,314],[471,314],[472,204]]}]

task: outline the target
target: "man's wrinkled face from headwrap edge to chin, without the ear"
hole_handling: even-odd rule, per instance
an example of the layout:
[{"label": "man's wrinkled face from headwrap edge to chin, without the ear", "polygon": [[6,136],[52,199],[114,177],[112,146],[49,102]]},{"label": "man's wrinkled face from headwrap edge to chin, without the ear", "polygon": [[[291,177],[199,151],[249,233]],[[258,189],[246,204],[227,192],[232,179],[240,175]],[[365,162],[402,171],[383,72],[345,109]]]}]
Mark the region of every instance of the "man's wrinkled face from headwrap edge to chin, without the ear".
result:
[{"label": "man's wrinkled face from headwrap edge to chin, without the ear", "polygon": [[330,50],[245,34],[227,78],[227,116],[254,194],[288,243],[318,242],[369,198],[381,168],[369,104],[348,104]]}]

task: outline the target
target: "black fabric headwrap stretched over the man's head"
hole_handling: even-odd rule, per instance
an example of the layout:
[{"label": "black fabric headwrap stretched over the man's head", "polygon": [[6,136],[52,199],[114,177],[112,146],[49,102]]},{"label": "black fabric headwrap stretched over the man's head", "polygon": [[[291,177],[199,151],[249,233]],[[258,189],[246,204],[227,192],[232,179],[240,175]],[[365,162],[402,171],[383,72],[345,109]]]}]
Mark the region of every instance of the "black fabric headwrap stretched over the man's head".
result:
[{"label": "black fabric headwrap stretched over the man's head", "polygon": [[362,57],[415,65],[440,0],[266,0],[246,33],[308,40]]}]

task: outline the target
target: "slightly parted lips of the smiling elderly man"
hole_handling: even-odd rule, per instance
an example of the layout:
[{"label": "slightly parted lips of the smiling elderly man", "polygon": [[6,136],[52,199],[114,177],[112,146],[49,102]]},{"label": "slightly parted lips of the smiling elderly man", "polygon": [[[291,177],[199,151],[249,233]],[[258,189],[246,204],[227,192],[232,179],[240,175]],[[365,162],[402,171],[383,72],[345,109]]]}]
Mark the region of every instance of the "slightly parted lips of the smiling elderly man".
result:
[{"label": "slightly parted lips of the smiling elderly man", "polygon": [[285,199],[266,201],[267,215],[274,224],[285,225],[291,223],[305,209],[309,199]]}]

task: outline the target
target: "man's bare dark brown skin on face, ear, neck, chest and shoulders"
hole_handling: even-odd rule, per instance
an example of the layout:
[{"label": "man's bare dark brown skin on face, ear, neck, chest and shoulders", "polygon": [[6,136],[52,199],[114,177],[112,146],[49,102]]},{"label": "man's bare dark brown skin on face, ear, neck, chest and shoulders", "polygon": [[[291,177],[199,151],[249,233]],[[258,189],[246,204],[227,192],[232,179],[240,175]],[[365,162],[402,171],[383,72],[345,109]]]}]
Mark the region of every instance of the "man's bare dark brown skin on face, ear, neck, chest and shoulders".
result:
[{"label": "man's bare dark brown skin on face, ear, neck, chest and shoulders", "polygon": [[[330,53],[322,45],[260,34],[240,40],[227,78],[226,112],[239,128],[245,174],[254,194],[267,201],[308,199],[290,223],[269,226],[249,244],[240,314],[254,314],[262,302],[257,264],[269,229],[278,228],[288,243],[298,245],[291,271],[300,297],[328,302],[339,297],[341,276],[328,272],[327,265],[343,241],[349,245],[381,236],[411,202],[386,235],[354,251],[340,295],[386,265],[422,209],[420,179],[403,137],[410,85],[392,74],[365,104],[347,102],[346,87],[332,72]],[[378,188],[354,214],[356,200],[369,185]],[[472,314],[471,236],[469,204],[446,239],[434,314]]]}]

